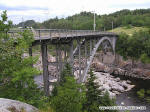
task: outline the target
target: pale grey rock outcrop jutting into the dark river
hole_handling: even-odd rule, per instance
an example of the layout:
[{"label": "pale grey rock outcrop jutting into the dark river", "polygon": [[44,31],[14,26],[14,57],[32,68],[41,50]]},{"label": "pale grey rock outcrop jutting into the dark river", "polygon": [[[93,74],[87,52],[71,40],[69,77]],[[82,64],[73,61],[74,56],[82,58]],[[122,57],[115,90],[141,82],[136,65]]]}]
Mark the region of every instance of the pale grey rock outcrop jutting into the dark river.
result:
[{"label": "pale grey rock outcrop jutting into the dark river", "polygon": [[122,92],[131,90],[134,85],[131,85],[130,81],[120,80],[120,78],[115,78],[109,73],[94,72],[96,74],[96,82],[100,85],[100,90],[102,92],[108,91],[110,97],[116,97],[116,95]]}]

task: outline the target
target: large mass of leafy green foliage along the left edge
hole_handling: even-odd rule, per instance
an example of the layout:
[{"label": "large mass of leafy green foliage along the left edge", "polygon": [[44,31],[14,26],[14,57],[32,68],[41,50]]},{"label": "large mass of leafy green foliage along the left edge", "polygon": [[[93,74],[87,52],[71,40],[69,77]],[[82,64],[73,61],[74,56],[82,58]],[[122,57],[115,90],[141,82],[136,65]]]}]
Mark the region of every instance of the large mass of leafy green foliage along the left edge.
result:
[{"label": "large mass of leafy green foliage along the left edge", "polygon": [[33,42],[33,34],[25,30],[20,36],[11,38],[7,31],[11,22],[7,21],[6,11],[0,20],[0,97],[20,100],[35,106],[43,105],[46,98],[34,83],[34,76],[39,71],[31,64],[34,57],[24,57]]}]

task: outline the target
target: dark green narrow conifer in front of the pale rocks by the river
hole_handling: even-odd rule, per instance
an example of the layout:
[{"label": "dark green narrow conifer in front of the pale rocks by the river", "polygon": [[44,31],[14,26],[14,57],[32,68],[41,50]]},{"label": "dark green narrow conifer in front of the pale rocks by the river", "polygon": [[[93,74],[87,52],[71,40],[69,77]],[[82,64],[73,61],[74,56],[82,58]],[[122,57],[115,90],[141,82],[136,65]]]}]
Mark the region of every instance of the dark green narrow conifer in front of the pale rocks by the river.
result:
[{"label": "dark green narrow conifer in front of the pale rocks by the river", "polygon": [[90,70],[89,77],[86,82],[86,101],[84,103],[83,110],[86,112],[116,112],[111,110],[99,110],[99,106],[114,106],[115,100],[110,99],[108,92],[103,94],[99,90],[99,85],[95,82],[95,79],[95,74],[92,70]]}]

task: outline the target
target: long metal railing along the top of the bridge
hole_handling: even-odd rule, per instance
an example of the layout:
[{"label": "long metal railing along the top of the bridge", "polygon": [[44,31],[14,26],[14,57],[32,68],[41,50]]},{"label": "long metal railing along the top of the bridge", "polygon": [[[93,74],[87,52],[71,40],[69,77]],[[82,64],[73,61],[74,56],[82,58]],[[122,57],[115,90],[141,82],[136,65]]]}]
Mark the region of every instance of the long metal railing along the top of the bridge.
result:
[{"label": "long metal railing along the top of the bridge", "polygon": [[[10,30],[8,33],[11,36],[17,36],[18,32],[23,32],[25,29]],[[84,35],[99,35],[113,34],[112,32],[93,31],[93,30],[66,30],[66,29],[28,29],[33,32],[34,37],[38,39],[55,38],[55,37],[73,37]]]}]

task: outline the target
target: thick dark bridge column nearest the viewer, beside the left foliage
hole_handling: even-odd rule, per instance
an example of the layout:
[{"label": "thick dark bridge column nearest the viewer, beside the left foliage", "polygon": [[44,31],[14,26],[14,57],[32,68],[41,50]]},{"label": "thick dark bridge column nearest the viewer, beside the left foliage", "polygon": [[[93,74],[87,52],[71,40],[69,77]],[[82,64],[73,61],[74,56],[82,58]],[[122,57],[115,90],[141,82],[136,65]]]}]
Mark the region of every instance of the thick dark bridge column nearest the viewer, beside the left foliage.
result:
[{"label": "thick dark bridge column nearest the viewer, beside the left foliage", "polygon": [[49,96],[49,75],[48,75],[48,56],[47,56],[47,45],[42,42],[42,64],[43,64],[43,82],[44,82],[44,92],[46,96]]}]

